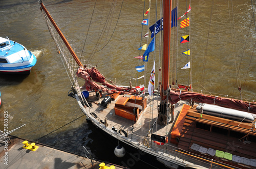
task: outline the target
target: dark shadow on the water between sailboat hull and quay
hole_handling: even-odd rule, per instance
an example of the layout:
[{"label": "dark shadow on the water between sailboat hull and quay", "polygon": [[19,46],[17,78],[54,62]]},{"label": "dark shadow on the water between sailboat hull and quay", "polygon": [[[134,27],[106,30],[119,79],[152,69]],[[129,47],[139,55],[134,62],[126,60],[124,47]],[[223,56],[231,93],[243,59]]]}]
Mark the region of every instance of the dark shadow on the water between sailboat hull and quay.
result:
[{"label": "dark shadow on the water between sailboat hull and quay", "polygon": [[[104,135],[104,133],[91,123],[84,122],[78,128],[71,130],[63,129],[63,132],[61,131],[57,134],[55,132],[51,133],[45,137],[39,138],[38,142],[80,156],[85,156],[84,146],[93,159],[129,168],[166,168],[163,164],[159,164],[157,167],[148,164],[145,162],[146,160],[156,159],[151,159],[151,157],[143,155],[143,153],[138,152],[138,150],[131,150],[130,148],[125,148],[126,153],[124,157],[116,157],[114,150],[116,146],[118,146],[117,140]],[[139,153],[139,158],[136,158]],[[89,158],[90,155],[87,153]]]}]

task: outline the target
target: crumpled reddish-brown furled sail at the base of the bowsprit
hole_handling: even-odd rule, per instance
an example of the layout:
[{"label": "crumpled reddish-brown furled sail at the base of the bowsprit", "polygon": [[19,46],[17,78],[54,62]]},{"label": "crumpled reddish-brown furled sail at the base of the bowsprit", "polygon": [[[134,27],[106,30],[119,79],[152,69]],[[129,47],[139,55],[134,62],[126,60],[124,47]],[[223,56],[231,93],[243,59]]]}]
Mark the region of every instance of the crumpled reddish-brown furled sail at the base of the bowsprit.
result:
[{"label": "crumpled reddish-brown furled sail at the base of the bowsprit", "polygon": [[[102,90],[103,92],[107,93],[136,93],[136,89],[127,89],[127,88],[121,88],[121,87],[116,87],[115,85],[111,85],[108,81],[105,80],[105,77],[95,68],[92,67],[91,69],[88,69],[86,67],[79,67],[77,72],[76,72],[77,77],[81,77],[86,82],[82,86],[81,89],[86,89],[87,91],[92,91],[94,88],[97,90]],[[113,90],[108,90],[100,85],[98,85],[96,82],[102,83],[103,86],[106,86],[110,89]],[[129,91],[129,92],[127,92]]]}]

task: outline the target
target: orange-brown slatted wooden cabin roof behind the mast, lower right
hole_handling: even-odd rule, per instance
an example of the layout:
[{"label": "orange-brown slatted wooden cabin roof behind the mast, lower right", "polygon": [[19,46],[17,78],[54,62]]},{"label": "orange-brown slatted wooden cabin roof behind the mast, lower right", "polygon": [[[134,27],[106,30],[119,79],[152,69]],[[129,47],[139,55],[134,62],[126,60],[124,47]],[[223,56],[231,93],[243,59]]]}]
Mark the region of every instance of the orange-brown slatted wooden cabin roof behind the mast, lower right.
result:
[{"label": "orange-brown slatted wooden cabin roof behind the mast, lower right", "polygon": [[[197,123],[205,124],[205,126],[197,127]],[[255,121],[241,123],[205,114],[200,118],[200,114],[194,106],[187,112],[178,147],[210,158],[214,157],[192,150],[191,145],[197,144],[207,149],[211,148],[248,159],[256,159],[256,133],[250,131],[254,124]],[[250,139],[246,136],[248,133],[250,133]],[[223,158],[219,160],[240,166]],[[246,167],[250,168],[250,166]]]}]

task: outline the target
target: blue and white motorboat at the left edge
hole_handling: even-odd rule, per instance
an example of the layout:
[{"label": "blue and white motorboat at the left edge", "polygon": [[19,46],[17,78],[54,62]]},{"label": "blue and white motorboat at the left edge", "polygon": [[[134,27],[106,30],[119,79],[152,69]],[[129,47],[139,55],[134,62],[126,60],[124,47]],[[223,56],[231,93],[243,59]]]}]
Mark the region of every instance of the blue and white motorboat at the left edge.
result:
[{"label": "blue and white motorboat at the left edge", "polygon": [[30,74],[36,57],[23,45],[0,37],[0,73]]}]

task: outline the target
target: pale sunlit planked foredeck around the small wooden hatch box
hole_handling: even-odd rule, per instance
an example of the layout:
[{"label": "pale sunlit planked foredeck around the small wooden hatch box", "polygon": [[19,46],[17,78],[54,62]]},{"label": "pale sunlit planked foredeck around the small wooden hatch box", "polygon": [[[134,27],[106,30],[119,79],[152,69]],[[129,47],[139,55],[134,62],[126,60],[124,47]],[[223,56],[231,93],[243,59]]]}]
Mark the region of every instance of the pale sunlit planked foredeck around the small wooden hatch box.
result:
[{"label": "pale sunlit planked foredeck around the small wooden hatch box", "polygon": [[[105,108],[100,105],[101,101],[104,98],[103,97],[100,100],[96,100],[94,97],[94,93],[90,93],[89,98],[87,98],[87,101],[93,104],[93,110],[97,117],[104,122],[104,119],[107,118],[107,123],[108,127],[115,127],[118,131],[120,129],[124,130],[127,132],[128,138],[131,138],[133,135],[133,139],[137,142],[140,142],[143,144],[144,137],[147,138],[147,142],[150,143],[150,146],[154,146],[156,148],[162,149],[163,146],[159,146],[156,144],[151,145],[151,139],[150,139],[150,129],[154,123],[156,123],[153,127],[153,134],[161,135],[161,136],[168,136],[168,141],[170,140],[170,132],[173,129],[174,123],[168,123],[166,126],[161,126],[160,124],[157,123],[157,116],[158,116],[158,110],[157,110],[157,105],[159,103],[160,98],[154,97],[146,97],[147,101],[147,107],[141,112],[137,122],[136,120],[129,120],[120,116],[117,116],[115,114],[115,103],[118,101],[120,97],[123,95],[118,96],[116,100],[112,100],[111,104]],[[174,111],[174,118],[177,118],[176,116],[179,114],[183,103],[187,102],[182,102],[182,104],[177,104],[175,111]],[[131,132],[132,127],[133,128],[133,133]],[[123,134],[123,133],[122,133]],[[170,145],[173,145],[171,143],[168,143]],[[170,149],[173,149],[170,147]]]}]

